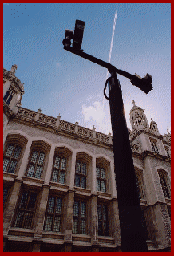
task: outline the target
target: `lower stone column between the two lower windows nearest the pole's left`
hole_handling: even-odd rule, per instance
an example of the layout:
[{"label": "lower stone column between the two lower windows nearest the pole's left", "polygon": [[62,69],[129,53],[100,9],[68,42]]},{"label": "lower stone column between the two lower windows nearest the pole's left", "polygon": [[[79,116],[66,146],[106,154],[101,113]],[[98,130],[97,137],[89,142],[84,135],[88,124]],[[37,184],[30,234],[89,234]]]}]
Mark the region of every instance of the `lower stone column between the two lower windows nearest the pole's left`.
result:
[{"label": "lower stone column between the two lower windows nearest the pole's left", "polygon": [[92,245],[97,245],[98,242],[98,213],[97,213],[97,194],[91,196],[91,213],[90,219],[90,232]]}]

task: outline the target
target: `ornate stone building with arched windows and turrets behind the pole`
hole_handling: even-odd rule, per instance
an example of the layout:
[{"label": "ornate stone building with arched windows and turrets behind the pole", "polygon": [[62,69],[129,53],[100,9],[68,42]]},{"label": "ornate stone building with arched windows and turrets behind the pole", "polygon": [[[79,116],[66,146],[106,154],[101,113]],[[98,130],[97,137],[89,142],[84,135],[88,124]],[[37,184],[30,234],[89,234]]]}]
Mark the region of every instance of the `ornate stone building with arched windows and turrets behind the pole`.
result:
[{"label": "ornate stone building with arched windows and turrets behind the pole", "polygon": [[[111,134],[22,108],[3,70],[4,251],[121,251]],[[170,251],[171,135],[133,101],[129,139],[148,251]]]}]

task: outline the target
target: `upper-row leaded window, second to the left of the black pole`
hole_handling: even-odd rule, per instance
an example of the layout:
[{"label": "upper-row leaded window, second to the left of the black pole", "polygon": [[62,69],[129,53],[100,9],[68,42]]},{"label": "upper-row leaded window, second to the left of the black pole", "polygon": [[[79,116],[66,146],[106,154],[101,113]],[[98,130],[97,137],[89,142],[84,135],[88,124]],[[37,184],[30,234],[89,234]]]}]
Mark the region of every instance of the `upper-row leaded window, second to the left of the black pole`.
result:
[{"label": "upper-row leaded window, second to the left of the black pole", "polygon": [[86,188],[87,165],[81,161],[76,162],[75,186]]}]

